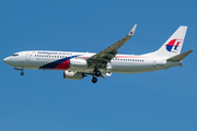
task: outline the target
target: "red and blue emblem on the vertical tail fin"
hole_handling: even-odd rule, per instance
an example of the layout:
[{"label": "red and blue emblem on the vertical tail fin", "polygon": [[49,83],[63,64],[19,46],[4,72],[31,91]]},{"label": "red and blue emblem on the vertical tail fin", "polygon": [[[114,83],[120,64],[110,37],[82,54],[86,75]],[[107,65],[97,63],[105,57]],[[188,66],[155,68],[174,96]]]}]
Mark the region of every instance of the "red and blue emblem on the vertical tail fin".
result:
[{"label": "red and blue emblem on the vertical tail fin", "polygon": [[177,51],[179,44],[183,43],[183,39],[172,39],[169,44],[166,44],[167,51]]}]

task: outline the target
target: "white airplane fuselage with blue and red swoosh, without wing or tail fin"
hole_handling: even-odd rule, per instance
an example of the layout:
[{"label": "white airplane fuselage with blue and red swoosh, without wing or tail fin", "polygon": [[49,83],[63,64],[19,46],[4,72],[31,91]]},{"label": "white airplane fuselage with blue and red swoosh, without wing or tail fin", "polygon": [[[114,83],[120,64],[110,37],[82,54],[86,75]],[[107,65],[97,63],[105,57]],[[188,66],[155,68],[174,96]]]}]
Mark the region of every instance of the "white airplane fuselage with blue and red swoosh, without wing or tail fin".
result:
[{"label": "white airplane fuselage with blue and red swoosh, without wing or tail fin", "polygon": [[[33,50],[16,52],[3,61],[9,66],[21,69],[62,70],[92,73],[86,59],[95,53],[71,51]],[[179,62],[167,61],[165,58],[116,55],[107,68],[100,69],[102,73],[141,73],[179,66]]]}]

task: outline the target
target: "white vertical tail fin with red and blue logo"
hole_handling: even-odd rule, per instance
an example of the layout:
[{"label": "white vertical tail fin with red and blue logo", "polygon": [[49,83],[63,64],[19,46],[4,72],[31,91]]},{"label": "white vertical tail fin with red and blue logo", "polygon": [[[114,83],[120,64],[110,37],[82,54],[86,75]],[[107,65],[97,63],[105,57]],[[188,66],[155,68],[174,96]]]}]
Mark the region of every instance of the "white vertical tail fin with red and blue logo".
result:
[{"label": "white vertical tail fin with red and blue logo", "polygon": [[159,50],[147,53],[144,56],[171,58],[173,56],[179,55],[182,51],[187,26],[179,26]]}]

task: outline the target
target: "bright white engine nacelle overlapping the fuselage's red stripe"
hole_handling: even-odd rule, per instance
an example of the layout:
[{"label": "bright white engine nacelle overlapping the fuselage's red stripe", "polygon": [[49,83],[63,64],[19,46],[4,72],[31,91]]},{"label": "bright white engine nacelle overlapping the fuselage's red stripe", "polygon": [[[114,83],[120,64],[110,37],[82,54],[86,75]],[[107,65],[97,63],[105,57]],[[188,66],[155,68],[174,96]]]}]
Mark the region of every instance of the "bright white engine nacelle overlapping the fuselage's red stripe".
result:
[{"label": "bright white engine nacelle overlapping the fuselage's red stripe", "polygon": [[86,69],[88,62],[84,59],[70,59],[70,69]]}]

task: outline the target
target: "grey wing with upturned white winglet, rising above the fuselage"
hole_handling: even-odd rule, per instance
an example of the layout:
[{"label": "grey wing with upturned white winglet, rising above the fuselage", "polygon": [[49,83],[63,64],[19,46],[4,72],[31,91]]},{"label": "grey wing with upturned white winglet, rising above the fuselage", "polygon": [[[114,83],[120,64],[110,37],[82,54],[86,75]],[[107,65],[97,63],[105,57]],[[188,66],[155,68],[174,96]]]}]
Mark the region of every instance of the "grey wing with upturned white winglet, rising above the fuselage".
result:
[{"label": "grey wing with upturned white winglet, rising above the fuselage", "polygon": [[108,48],[100,51],[99,53],[90,57],[88,59],[89,63],[96,63],[106,67],[107,62],[109,62],[116,56],[117,50],[134,36],[136,27],[137,24],[135,24],[131,31],[120,40],[116,41]]}]

